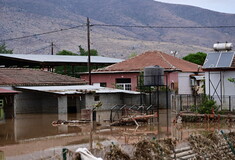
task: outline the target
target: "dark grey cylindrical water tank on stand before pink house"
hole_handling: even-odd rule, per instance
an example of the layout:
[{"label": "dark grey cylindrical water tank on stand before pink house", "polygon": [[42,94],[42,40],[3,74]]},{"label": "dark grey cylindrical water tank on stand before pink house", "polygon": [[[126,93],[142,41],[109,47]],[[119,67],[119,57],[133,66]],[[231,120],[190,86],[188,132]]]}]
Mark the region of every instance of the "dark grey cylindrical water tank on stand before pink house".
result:
[{"label": "dark grey cylindrical water tank on stand before pink house", "polygon": [[149,66],[144,68],[145,86],[164,85],[164,68],[160,66]]}]

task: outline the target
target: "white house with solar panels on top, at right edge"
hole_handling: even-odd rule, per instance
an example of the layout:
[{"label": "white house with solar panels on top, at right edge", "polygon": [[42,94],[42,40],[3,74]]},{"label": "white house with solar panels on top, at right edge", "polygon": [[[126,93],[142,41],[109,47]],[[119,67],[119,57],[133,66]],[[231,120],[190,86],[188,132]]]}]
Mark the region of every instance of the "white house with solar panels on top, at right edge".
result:
[{"label": "white house with solar panels on top, at right edge", "polygon": [[208,53],[203,65],[206,94],[222,109],[235,109],[234,55],[233,51]]}]

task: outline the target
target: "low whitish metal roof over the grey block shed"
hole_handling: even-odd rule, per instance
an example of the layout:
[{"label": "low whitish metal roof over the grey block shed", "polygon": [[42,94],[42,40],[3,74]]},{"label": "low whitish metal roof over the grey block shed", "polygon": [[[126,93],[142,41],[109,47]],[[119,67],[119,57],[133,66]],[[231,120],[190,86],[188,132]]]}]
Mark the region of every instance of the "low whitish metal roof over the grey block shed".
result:
[{"label": "low whitish metal roof over the grey block shed", "polygon": [[32,91],[41,91],[47,93],[54,93],[60,95],[68,94],[85,94],[85,93],[126,93],[126,94],[140,94],[140,92],[127,91],[121,89],[98,87],[92,85],[74,85],[74,86],[18,86],[17,89],[26,89]]}]

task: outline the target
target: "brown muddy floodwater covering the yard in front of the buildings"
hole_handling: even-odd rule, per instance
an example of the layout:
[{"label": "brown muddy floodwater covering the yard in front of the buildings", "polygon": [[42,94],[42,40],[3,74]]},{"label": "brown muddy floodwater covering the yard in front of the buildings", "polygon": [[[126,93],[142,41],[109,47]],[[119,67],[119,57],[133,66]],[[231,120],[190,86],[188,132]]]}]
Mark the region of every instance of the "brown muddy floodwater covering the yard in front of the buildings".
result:
[{"label": "brown muddy floodwater covering the yard in front of the buildings", "polygon": [[[141,126],[110,127],[102,116],[97,116],[101,126],[92,132],[94,141],[115,141],[122,144],[131,144],[144,137],[176,138],[184,140],[198,132],[215,130],[233,130],[234,124],[227,123],[172,123],[175,115],[171,111],[162,110],[158,119]],[[49,148],[63,148],[69,145],[89,146],[91,125],[60,125],[53,126],[55,120],[78,120],[80,114],[20,114],[14,119],[0,122],[0,158],[18,159],[17,156],[31,154]],[[106,117],[107,118],[107,117]],[[83,145],[84,144],[84,145]],[[24,158],[22,158],[24,159]]]}]

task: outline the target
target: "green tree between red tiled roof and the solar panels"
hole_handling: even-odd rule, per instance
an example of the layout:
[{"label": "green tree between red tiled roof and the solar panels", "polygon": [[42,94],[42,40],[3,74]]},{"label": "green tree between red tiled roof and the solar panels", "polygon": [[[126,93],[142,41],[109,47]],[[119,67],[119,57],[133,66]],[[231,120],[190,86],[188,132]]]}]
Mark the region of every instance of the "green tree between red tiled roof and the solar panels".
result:
[{"label": "green tree between red tiled roof and the solar panels", "polygon": [[183,57],[183,60],[196,63],[198,65],[203,65],[205,59],[206,59],[206,53],[203,52],[197,52],[197,53],[190,53],[187,56]]}]

